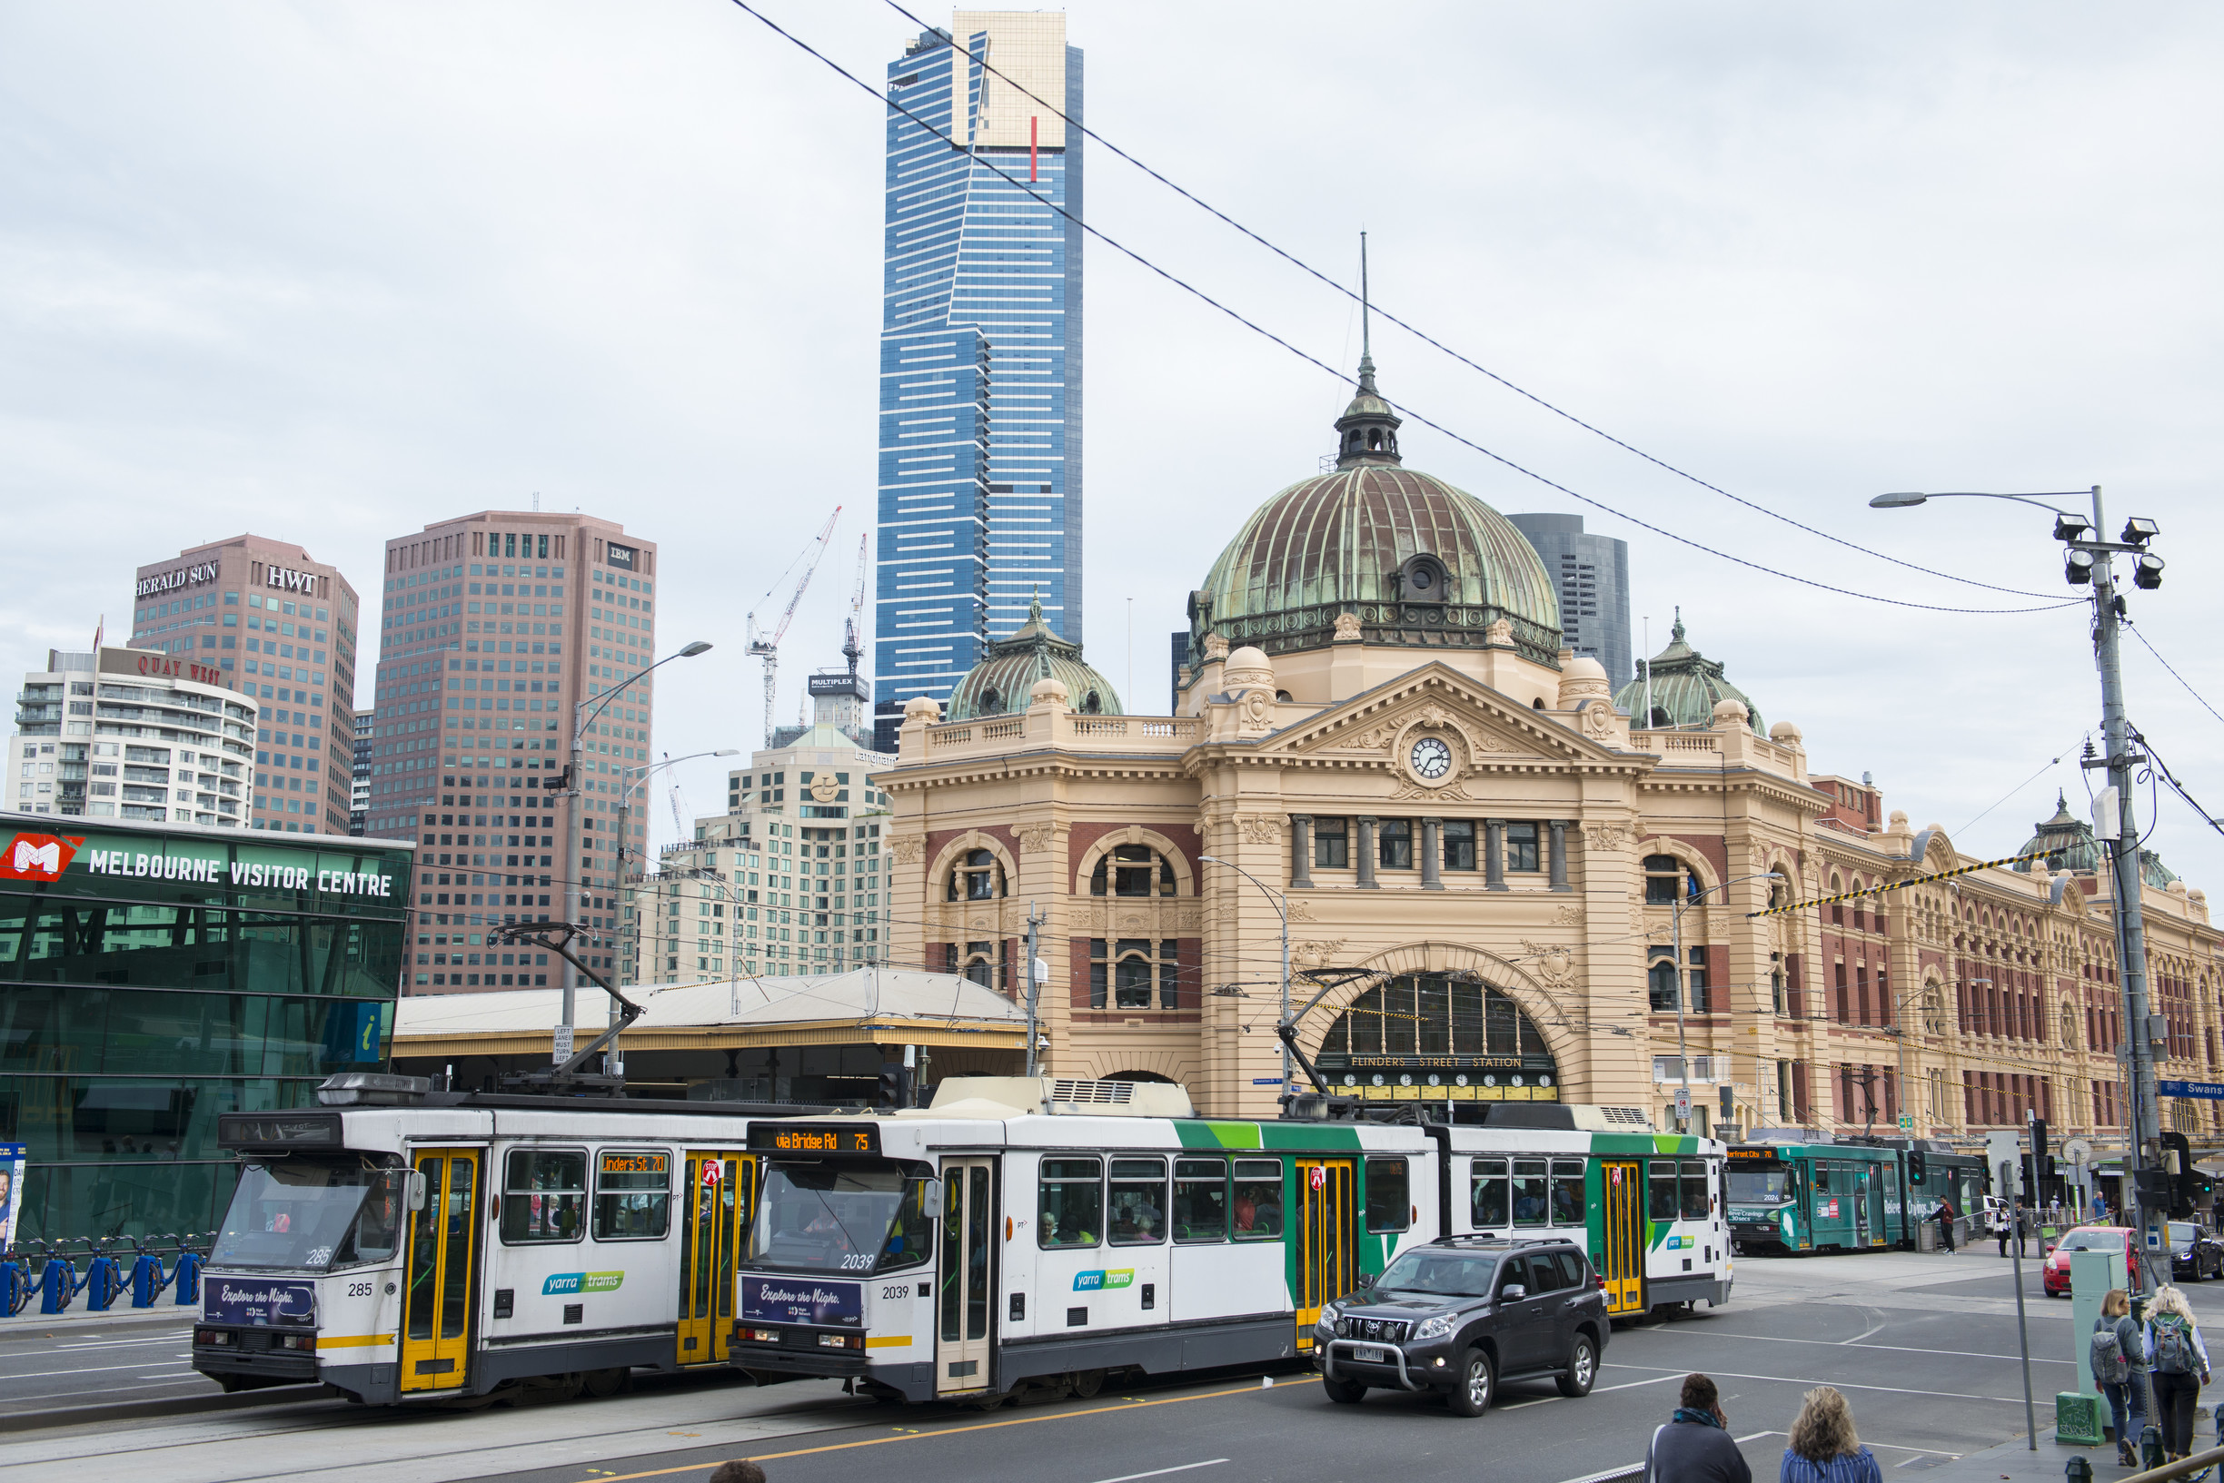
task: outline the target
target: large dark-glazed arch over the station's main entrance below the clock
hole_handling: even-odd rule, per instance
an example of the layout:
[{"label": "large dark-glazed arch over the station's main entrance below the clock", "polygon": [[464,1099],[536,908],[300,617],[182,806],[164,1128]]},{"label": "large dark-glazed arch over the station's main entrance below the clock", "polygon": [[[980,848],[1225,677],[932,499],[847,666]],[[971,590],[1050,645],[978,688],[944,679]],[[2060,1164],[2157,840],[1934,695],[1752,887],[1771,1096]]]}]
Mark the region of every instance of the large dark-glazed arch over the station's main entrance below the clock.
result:
[{"label": "large dark-glazed arch over the station's main entrance below the clock", "polygon": [[1477,974],[1397,974],[1321,1038],[1330,1092],[1383,1101],[1557,1103],[1559,1065],[1512,996]]}]

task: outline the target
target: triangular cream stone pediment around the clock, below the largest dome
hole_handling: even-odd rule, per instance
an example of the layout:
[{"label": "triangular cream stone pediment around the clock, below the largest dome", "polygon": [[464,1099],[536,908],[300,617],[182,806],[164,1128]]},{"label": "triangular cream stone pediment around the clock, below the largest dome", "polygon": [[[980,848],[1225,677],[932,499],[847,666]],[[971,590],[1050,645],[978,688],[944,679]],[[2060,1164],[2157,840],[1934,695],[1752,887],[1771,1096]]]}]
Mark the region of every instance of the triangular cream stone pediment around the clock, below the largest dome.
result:
[{"label": "triangular cream stone pediment around the clock, below the largest dome", "polygon": [[1492,763],[1641,763],[1434,663],[1285,727],[1261,749],[1397,760],[1401,745],[1410,747],[1423,734],[1454,743],[1466,754],[1457,758],[1461,769]]}]

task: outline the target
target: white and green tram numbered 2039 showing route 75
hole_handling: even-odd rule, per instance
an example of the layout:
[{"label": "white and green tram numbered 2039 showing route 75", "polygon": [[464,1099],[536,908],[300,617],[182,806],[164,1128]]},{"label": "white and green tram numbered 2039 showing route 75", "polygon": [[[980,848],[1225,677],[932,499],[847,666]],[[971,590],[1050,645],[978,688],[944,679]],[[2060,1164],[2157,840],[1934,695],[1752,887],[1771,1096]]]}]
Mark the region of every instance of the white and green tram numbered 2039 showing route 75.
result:
[{"label": "white and green tram numbered 2039 showing route 75", "polygon": [[1297,1358],[1361,1274],[1475,1230],[1575,1238],[1617,1314],[1728,1301],[1719,1143],[1503,1112],[1528,1125],[1210,1121],[1172,1085],[963,1078],[923,1112],[752,1123],[732,1363],[987,1403]]}]

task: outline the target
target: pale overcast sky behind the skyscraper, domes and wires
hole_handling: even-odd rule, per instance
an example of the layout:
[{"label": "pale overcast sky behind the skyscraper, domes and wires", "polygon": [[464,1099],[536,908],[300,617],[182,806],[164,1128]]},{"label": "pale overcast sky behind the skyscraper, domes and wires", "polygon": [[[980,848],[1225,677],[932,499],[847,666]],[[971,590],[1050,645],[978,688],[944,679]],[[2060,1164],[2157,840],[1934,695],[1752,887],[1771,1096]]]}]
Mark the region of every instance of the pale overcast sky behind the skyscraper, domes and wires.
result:
[{"label": "pale overcast sky behind the skyscraper, domes and wires", "polygon": [[[914,33],[881,0],[763,9],[867,80]],[[2164,531],[2133,620],[2224,709],[2215,7],[1123,0],[1070,7],[1068,36],[1094,129],[1341,280],[1368,229],[1377,300],[1499,376],[1819,531],[2039,596],[1830,545],[1381,329],[1410,409],[1690,540],[1944,607],[2068,598],[2048,516],[1870,494],[2099,482],[2111,522]],[[872,98],[718,0],[0,2],[0,667],[125,629],[136,565],[242,529],[376,607],[387,536],[538,491],[658,540],[665,640],[716,643],[661,687],[658,752],[758,745],[745,614],[843,505],[790,711],[838,663],[872,522],[881,145]],[[1357,358],[1334,291],[1101,151],[1088,191],[1110,236]],[[1348,389],[1088,253],[1088,656],[1161,711],[1185,591],[1317,471]],[[2082,800],[2079,609],[1833,596],[1426,427],[1403,451],[1626,538],[1655,649],[1681,605],[1817,772],[1873,772],[1917,827],[2006,854],[2057,787]],[[2224,723],[2137,643],[2126,674],[2224,812]],[[678,772],[714,809],[723,769]],[[2168,796],[2153,845],[2224,887],[2224,838]]]}]

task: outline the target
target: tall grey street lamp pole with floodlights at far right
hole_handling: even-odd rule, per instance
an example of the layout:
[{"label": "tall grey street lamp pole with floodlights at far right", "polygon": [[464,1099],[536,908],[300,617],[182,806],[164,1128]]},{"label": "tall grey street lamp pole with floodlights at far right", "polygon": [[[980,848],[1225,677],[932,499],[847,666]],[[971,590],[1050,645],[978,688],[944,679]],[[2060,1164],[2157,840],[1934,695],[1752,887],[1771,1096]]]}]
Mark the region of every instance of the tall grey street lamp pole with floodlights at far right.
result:
[{"label": "tall grey street lamp pole with floodlights at far right", "polygon": [[[2093,518],[2048,505],[2046,500],[2073,500],[2091,494]],[[2148,1141],[2162,1129],[2162,1105],[2155,1094],[2153,1047],[2146,1043],[2146,918],[2139,903],[2139,825],[2133,816],[2131,769],[2144,758],[2131,754],[2131,727],[2124,720],[2124,667],[2119,656],[2119,629],[2124,623],[2124,598],[2115,585],[2115,556],[2133,558],[2131,585],[2151,591],[2162,585],[2162,558],[2146,545],[2162,534],[2162,527],[2144,516],[2124,522],[2117,540],[2095,540],[2108,527],[2099,500],[2099,485],[2091,491],[2066,494],[1879,494],[1870,500],[1877,509],[1899,509],[1926,500],[2015,500],[2037,505],[2055,516],[2055,540],[2062,543],[2062,576],[2071,587],[2093,589],[2093,651],[2099,667],[2099,723],[2106,738],[2104,758],[2086,758],[2084,767],[2108,769],[2108,794],[2115,794],[2115,838],[2106,838],[2106,827],[2095,834],[2108,845],[2111,883],[2115,889],[2115,952],[2117,972],[2124,985],[2124,1025],[2131,1032],[2131,1127],[2128,1143],[2135,1149],[2137,1170],[2133,1187],[2133,1225],[2146,1227],[2146,1201],[2139,1194],[2139,1174],[2153,1165]],[[2142,1138],[2142,1129],[2146,1136]]]}]

